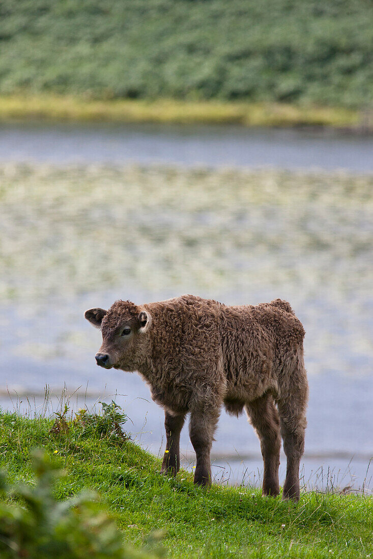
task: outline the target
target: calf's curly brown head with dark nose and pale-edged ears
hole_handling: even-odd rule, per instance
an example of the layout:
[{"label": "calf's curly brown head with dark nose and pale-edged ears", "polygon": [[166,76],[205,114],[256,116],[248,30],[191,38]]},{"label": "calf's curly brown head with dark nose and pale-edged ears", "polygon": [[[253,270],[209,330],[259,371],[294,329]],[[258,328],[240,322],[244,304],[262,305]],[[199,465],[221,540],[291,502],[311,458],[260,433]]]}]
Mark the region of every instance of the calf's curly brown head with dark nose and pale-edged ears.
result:
[{"label": "calf's curly brown head with dark nose and pale-edged ears", "polygon": [[146,355],[150,314],[130,301],[115,301],[108,311],[89,309],[85,318],[101,329],[96,363],[105,369],[135,371]]}]

